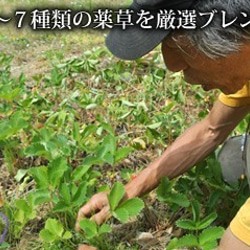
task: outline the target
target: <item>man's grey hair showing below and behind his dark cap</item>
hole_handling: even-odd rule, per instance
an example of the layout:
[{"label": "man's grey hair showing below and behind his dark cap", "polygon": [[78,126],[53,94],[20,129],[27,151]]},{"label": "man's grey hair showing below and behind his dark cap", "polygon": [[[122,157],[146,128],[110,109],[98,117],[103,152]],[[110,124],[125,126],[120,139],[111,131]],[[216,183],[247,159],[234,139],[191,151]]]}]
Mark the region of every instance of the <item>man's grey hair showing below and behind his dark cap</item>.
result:
[{"label": "man's grey hair showing below and behind his dark cap", "polygon": [[[218,14],[215,14],[213,21],[207,27],[185,31],[191,44],[209,58],[216,59],[237,52],[241,45],[250,39],[247,30],[249,28],[240,27],[239,22],[222,28],[220,14],[221,10],[226,11],[227,20],[239,17],[241,11],[250,15],[250,0],[197,0],[194,8],[197,12],[203,13],[211,12],[213,9],[218,10]],[[197,16],[197,23],[205,24],[207,18]],[[247,18],[244,20],[247,22]]]}]

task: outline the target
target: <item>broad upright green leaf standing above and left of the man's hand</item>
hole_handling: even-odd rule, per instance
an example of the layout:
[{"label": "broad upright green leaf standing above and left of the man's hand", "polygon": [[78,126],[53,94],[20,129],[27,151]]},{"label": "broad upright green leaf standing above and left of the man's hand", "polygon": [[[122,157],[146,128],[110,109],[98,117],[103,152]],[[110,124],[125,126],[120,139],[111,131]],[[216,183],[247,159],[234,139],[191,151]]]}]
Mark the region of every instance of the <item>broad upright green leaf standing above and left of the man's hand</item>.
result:
[{"label": "broad upright green leaf standing above and left of the man's hand", "polygon": [[48,165],[48,177],[50,184],[55,188],[58,186],[64,173],[68,170],[67,161],[63,158],[57,158]]}]

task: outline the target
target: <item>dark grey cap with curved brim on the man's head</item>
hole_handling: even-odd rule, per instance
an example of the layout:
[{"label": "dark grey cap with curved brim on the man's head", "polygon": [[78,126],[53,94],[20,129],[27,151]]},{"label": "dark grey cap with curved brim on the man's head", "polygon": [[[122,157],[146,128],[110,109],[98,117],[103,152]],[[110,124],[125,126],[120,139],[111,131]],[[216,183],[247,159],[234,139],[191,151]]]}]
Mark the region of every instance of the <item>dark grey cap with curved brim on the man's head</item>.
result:
[{"label": "dark grey cap with curved brim on the man's head", "polygon": [[[138,4],[139,2],[139,4]],[[121,26],[114,26],[109,32],[106,45],[108,49],[117,57],[127,60],[140,58],[154,49],[166,37],[170,29],[157,29],[156,19],[152,21],[153,29],[143,29],[136,25],[138,16],[136,13],[141,9],[150,11],[150,14],[157,15],[159,9],[188,9],[194,1],[133,1],[129,9],[133,10],[132,20],[134,25],[127,25],[126,29]],[[147,3],[148,5],[145,5]],[[156,16],[155,16],[156,17]]]}]

